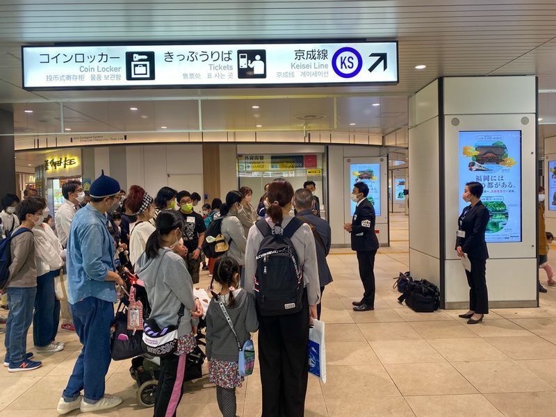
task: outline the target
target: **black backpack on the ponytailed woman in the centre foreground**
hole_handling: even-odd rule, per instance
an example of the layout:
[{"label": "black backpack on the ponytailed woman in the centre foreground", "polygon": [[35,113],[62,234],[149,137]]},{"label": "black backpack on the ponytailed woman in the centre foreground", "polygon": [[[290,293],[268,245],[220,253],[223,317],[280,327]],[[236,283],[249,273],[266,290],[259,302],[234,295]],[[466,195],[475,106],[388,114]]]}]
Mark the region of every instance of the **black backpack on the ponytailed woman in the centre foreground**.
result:
[{"label": "black backpack on the ponytailed woman in the centre foreground", "polygon": [[255,224],[263,234],[255,258],[255,297],[259,311],[263,316],[298,313],[302,309],[304,284],[291,237],[303,222],[292,218],[284,229],[280,224],[271,229],[264,219]]}]

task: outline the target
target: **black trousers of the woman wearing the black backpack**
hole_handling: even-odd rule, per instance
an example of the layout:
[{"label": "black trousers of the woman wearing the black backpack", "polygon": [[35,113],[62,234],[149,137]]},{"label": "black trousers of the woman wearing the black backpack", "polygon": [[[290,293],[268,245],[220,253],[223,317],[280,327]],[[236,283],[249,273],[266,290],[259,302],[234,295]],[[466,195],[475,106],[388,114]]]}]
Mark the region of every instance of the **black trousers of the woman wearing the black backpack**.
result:
[{"label": "black trousers of the woman wearing the black backpack", "polygon": [[309,303],[295,314],[259,316],[263,417],[302,417],[309,361]]}]

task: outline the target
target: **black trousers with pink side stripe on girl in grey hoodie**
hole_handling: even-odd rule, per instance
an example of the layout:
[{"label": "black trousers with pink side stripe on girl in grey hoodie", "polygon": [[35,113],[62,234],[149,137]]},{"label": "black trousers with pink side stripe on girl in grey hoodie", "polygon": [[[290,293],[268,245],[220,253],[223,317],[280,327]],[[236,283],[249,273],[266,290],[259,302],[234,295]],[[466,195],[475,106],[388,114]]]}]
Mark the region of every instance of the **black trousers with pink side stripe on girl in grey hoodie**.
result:
[{"label": "black trousers with pink side stripe on girl in grey hoodie", "polygon": [[154,400],[154,417],[174,416],[181,401],[186,377],[186,355],[169,354],[161,358],[160,377]]}]

